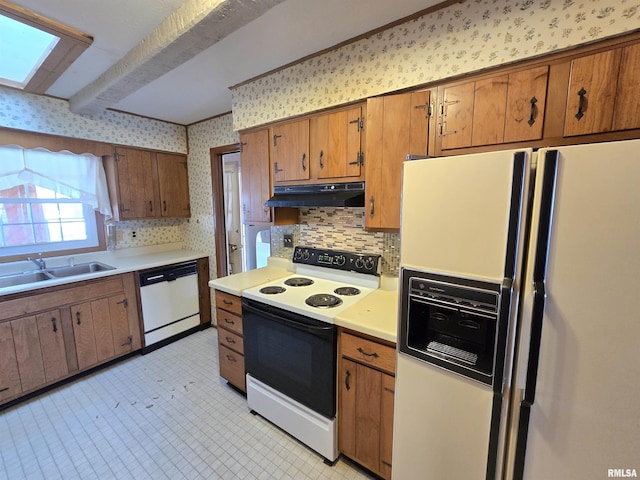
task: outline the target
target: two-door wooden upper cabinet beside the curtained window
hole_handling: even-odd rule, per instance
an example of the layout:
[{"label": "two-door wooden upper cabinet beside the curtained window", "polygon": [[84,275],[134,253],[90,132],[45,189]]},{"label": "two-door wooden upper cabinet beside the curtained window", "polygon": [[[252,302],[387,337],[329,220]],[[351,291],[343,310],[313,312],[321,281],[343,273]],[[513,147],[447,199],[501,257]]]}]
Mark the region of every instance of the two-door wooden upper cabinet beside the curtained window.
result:
[{"label": "two-door wooden upper cabinet beside the curtained window", "polygon": [[114,220],[190,216],[185,155],[117,147],[104,166]]}]

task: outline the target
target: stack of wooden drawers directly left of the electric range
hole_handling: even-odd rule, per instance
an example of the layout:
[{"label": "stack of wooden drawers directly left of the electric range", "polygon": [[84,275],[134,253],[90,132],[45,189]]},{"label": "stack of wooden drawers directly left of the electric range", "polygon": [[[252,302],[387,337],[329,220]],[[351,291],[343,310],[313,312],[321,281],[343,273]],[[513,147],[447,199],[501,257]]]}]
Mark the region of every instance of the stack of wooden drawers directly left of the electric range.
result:
[{"label": "stack of wooden drawers directly left of the electric range", "polygon": [[246,392],[242,300],[220,290],[216,290],[215,296],[220,376]]}]

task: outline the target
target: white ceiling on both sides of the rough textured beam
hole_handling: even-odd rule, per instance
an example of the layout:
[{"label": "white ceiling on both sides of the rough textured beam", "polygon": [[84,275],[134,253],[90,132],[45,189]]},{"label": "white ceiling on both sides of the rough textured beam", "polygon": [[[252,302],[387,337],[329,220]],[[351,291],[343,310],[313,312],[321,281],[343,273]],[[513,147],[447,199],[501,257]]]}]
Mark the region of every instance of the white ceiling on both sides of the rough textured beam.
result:
[{"label": "white ceiling on both sides of the rough textured beam", "polygon": [[[228,36],[108,107],[189,125],[230,111],[229,87],[233,85],[440,1],[263,0],[262,3],[275,6],[244,26],[241,25],[246,22],[232,19],[234,25],[240,26]],[[94,38],[93,44],[46,92],[71,99],[99,84],[99,77],[105,72],[120,76],[114,73],[114,64],[131,49],[140,48],[139,44],[179,7],[186,3],[197,5],[198,0],[14,0],[14,3]],[[241,5],[249,14],[261,2],[220,3]],[[242,15],[242,8],[238,12]]]}]

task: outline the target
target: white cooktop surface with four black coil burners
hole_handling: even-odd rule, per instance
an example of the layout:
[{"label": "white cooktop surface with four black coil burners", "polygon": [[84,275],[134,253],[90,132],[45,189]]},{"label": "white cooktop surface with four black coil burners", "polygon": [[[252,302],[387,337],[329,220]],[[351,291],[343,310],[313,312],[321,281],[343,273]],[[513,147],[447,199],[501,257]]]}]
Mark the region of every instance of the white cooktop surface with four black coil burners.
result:
[{"label": "white cooktop surface with four black coil burners", "polygon": [[[296,277],[309,278],[313,280],[313,284],[299,287],[286,285],[285,282],[288,279]],[[379,284],[380,278],[375,275],[336,271],[311,265],[297,265],[295,274],[243,290],[242,296],[323,322],[334,323],[335,316],[376,290]],[[261,293],[260,290],[267,286],[278,286],[285,290],[276,294]],[[339,287],[356,287],[360,293],[358,295],[338,295],[334,293],[334,290]],[[342,303],[334,307],[307,305],[305,300],[315,294],[335,295],[342,300]]]}]

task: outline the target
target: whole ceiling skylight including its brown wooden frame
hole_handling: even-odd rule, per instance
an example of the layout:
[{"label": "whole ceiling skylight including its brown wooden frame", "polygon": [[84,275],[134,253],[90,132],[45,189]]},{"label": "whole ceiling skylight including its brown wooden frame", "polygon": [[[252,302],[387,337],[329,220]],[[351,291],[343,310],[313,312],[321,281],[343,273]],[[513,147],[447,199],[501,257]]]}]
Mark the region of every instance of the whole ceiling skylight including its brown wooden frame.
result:
[{"label": "whole ceiling skylight including its brown wooden frame", "polygon": [[45,93],[91,43],[82,32],[0,2],[0,84]]}]

